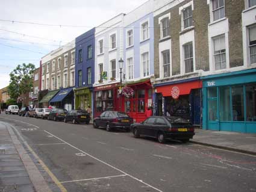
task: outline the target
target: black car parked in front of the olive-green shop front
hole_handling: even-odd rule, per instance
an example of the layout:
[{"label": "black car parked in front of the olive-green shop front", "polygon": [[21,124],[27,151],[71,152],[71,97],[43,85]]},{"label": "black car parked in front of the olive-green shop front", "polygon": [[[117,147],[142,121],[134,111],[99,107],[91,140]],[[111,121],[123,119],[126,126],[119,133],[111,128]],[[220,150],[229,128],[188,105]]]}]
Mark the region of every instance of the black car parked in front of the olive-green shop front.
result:
[{"label": "black car parked in front of the olive-green shop front", "polygon": [[66,114],[64,122],[72,122],[73,124],[86,123],[88,125],[90,123],[90,114],[87,111],[72,110]]}]

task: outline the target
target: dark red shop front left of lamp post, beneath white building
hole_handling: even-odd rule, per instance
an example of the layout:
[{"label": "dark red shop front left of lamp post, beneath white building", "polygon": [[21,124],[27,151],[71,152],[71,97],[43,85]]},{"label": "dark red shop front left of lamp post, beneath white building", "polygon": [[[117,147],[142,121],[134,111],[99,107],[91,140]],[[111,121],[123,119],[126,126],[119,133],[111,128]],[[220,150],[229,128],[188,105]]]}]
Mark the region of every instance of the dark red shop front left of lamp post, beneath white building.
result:
[{"label": "dark red shop front left of lamp post, beneath white building", "polygon": [[119,83],[94,87],[94,117],[100,116],[103,111],[107,110],[120,111],[120,100],[117,96],[118,88]]}]

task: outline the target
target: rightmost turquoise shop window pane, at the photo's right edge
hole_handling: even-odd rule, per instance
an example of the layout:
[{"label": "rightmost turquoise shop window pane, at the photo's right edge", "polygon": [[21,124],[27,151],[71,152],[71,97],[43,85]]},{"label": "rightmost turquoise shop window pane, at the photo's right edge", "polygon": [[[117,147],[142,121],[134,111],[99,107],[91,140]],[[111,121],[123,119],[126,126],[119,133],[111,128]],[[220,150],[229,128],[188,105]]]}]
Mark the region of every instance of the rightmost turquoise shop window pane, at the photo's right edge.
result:
[{"label": "rightmost turquoise shop window pane, at the photo's right edge", "polygon": [[256,122],[256,83],[246,85],[246,115],[248,122]]}]

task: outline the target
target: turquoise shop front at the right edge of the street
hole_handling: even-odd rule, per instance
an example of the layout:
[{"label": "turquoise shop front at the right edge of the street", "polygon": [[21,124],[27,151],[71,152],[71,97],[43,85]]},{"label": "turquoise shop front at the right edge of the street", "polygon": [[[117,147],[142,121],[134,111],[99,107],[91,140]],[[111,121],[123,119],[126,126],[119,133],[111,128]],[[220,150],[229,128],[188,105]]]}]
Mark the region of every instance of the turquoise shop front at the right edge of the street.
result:
[{"label": "turquoise shop front at the right edge of the street", "polygon": [[203,129],[256,133],[256,69],[202,77]]}]

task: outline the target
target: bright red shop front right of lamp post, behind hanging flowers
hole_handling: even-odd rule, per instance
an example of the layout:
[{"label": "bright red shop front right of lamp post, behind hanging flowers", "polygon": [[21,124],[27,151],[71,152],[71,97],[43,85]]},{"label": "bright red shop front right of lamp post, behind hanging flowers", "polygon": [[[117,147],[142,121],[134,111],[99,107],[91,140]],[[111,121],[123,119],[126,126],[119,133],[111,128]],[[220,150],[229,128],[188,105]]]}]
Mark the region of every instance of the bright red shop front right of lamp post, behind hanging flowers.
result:
[{"label": "bright red shop front right of lamp post, behind hanging flowers", "polygon": [[131,98],[122,97],[122,111],[127,113],[136,122],[146,119],[145,111],[152,106],[152,85],[150,79],[130,82],[128,87],[133,88],[134,96]]}]

